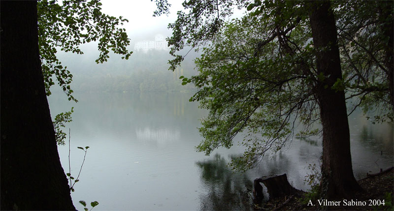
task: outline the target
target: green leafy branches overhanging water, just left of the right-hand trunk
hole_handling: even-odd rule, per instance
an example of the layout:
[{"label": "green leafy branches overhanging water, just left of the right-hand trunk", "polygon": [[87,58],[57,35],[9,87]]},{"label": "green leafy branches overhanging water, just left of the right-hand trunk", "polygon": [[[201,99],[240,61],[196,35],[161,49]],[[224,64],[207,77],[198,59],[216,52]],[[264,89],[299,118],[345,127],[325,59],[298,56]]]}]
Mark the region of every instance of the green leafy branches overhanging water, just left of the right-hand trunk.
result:
[{"label": "green leafy branches overhanging water, just left of the right-hand trunk", "polygon": [[[283,23],[283,12],[275,13],[270,6],[264,11]],[[289,5],[281,6],[286,10]],[[231,165],[246,170],[266,151],[279,151],[298,121],[305,125],[303,135],[316,133],[310,125],[319,113],[310,88],[319,79],[305,20],[290,18],[278,28],[271,19],[251,14],[225,23],[212,45],[202,49],[196,60],[199,75],[184,79],[200,88],[191,100],[210,110],[199,129],[204,140],[198,151],[230,148],[243,132],[240,144],[248,150]],[[287,40],[297,44],[290,46]]]}]

